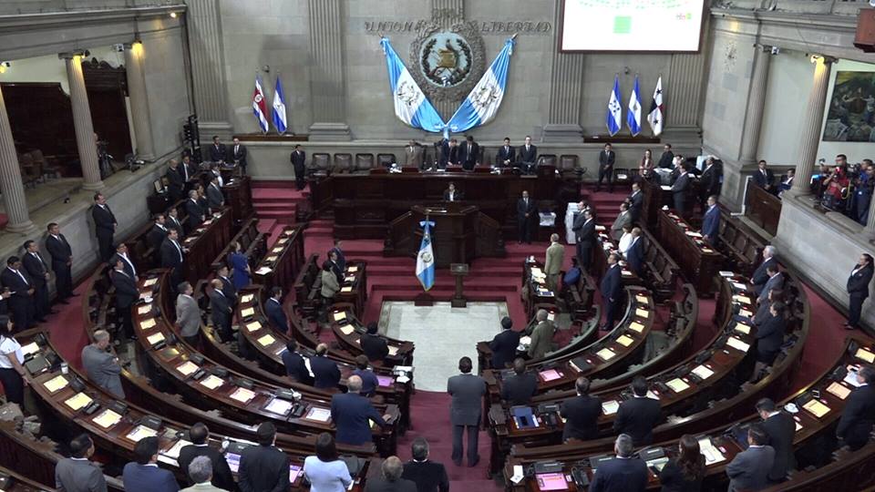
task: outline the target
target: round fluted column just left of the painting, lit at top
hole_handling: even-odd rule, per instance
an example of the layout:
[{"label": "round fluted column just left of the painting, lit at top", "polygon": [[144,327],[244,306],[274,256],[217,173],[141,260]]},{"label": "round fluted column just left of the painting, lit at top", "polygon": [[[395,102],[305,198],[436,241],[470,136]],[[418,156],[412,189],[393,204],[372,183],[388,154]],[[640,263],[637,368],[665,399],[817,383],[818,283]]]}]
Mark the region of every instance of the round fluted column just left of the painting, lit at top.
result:
[{"label": "round fluted column just left of the painting, lit at top", "polygon": [[818,159],[820,129],[823,128],[823,111],[827,103],[829,70],[836,61],[831,56],[818,56],[814,67],[814,84],[808,93],[808,105],[802,113],[802,131],[799,133],[799,155],[796,159],[796,178],[793,179],[793,193],[808,194],[808,183]]}]

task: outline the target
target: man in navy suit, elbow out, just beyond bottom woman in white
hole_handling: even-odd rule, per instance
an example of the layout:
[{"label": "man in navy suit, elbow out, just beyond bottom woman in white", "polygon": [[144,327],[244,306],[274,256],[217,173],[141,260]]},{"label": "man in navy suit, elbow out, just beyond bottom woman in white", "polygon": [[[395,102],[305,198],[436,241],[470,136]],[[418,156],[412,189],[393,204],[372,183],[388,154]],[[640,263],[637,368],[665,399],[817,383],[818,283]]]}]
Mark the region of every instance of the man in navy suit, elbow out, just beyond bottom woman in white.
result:
[{"label": "man in navy suit, elbow out, just beyond bottom woman in white", "polygon": [[331,397],[331,422],[337,428],[335,438],[338,444],[362,446],[370,443],[371,422],[385,427],[389,415],[380,415],[371,400],[360,395],[362,378],[351,375],[346,380],[346,393]]}]

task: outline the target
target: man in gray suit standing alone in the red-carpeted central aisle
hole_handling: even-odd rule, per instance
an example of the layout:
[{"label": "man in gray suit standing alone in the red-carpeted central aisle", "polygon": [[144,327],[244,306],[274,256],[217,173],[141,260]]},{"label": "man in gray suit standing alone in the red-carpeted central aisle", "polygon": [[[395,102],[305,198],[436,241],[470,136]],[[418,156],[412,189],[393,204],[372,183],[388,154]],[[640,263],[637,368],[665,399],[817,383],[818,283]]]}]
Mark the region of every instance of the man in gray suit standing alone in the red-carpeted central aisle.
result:
[{"label": "man in gray suit standing alone in the red-carpeted central aisle", "polygon": [[453,397],[449,405],[449,422],[453,425],[453,463],[462,466],[462,434],[468,429],[468,466],[477,466],[480,456],[477,454],[478,433],[480,425],[480,409],[483,407],[483,395],[486,395],[486,381],[479,375],[471,374],[471,359],[462,357],[458,360],[458,370],[461,374],[450,377],[447,381],[447,393]]}]

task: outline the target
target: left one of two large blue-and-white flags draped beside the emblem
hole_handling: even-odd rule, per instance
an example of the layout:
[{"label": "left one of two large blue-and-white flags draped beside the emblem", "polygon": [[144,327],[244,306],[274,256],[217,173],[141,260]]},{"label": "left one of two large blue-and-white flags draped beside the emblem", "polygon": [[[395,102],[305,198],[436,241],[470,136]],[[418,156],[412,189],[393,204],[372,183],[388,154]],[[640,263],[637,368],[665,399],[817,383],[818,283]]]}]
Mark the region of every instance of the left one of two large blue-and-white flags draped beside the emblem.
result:
[{"label": "left one of two large blue-and-white flags draped beside the emblem", "polygon": [[395,101],[395,116],[413,128],[426,131],[443,131],[443,118],[440,118],[435,107],[428,102],[426,95],[413,79],[404,62],[398,57],[395,49],[384,37],[380,39],[383,53],[386,55],[386,68],[389,70],[389,87],[392,89],[392,99]]}]

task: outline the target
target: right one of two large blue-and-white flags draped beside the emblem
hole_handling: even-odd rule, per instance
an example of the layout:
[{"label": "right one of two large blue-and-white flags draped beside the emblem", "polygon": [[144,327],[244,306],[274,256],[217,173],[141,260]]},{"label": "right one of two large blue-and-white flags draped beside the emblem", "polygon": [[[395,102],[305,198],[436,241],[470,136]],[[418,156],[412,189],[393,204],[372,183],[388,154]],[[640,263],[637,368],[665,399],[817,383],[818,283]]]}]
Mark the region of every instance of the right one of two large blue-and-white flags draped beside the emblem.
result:
[{"label": "right one of two large blue-and-white flags draped beside the emblem", "polygon": [[451,131],[456,133],[467,131],[485,125],[495,118],[501,106],[501,99],[504,98],[504,87],[508,84],[508,68],[510,68],[514,43],[516,41],[513,37],[504,43],[499,56],[495,57],[492,65],[483,77],[480,77],[480,81],[471,89],[468,97],[462,101],[453,118],[449,118],[447,125]]}]

